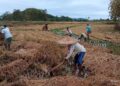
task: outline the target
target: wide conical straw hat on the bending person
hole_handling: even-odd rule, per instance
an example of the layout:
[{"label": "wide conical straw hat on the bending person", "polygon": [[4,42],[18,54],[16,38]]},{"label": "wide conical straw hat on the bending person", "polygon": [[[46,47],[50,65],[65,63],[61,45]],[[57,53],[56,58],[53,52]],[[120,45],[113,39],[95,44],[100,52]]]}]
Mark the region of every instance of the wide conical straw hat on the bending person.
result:
[{"label": "wide conical straw hat on the bending person", "polygon": [[72,37],[68,37],[68,36],[66,36],[66,37],[62,38],[61,40],[57,41],[57,43],[64,44],[64,45],[75,44],[77,42],[78,42],[78,40],[76,40]]}]

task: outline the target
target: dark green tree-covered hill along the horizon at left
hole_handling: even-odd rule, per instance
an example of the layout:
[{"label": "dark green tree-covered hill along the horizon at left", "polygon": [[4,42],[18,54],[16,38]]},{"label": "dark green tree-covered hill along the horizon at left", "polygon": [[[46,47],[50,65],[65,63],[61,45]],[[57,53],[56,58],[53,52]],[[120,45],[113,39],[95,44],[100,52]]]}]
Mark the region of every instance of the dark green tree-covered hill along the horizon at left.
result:
[{"label": "dark green tree-covered hill along the horizon at left", "polygon": [[47,13],[47,10],[27,8],[23,11],[16,9],[12,13],[5,12],[0,16],[1,20],[8,21],[88,21],[84,18],[70,18],[68,16],[54,16]]}]

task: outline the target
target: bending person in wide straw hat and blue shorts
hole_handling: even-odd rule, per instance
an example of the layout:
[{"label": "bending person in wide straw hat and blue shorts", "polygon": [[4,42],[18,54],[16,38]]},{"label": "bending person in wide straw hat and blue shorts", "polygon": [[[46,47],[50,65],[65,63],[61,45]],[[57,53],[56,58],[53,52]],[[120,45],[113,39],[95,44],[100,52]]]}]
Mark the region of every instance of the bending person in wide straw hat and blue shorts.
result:
[{"label": "bending person in wide straw hat and blue shorts", "polygon": [[78,76],[78,74],[82,70],[83,58],[86,53],[85,47],[83,45],[79,44],[77,40],[75,40],[71,37],[65,37],[65,38],[59,40],[58,43],[68,46],[68,53],[67,53],[67,56],[65,57],[66,61],[71,57],[73,52],[75,52],[74,69],[75,69],[75,75]]}]

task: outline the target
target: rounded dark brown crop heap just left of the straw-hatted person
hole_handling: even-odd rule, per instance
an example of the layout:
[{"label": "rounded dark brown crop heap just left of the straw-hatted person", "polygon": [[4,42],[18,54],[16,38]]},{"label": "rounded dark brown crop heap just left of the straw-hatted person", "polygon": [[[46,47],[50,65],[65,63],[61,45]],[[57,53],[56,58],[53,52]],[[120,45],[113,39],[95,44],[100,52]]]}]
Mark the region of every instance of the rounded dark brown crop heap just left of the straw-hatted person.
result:
[{"label": "rounded dark brown crop heap just left of the straw-hatted person", "polygon": [[62,62],[66,55],[66,47],[51,42],[43,45],[38,51],[39,52],[36,55],[37,61],[46,63],[51,67]]}]

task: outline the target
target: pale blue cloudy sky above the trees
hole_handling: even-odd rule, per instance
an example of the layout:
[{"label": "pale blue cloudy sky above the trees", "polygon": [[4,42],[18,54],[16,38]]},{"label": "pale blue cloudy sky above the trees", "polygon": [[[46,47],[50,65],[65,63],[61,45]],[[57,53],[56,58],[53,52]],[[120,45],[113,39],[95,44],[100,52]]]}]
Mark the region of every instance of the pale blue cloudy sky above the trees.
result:
[{"label": "pale blue cloudy sky above the trees", "polygon": [[109,18],[110,0],[0,0],[0,14],[14,9],[47,9],[49,14],[72,18]]}]

